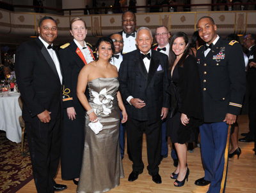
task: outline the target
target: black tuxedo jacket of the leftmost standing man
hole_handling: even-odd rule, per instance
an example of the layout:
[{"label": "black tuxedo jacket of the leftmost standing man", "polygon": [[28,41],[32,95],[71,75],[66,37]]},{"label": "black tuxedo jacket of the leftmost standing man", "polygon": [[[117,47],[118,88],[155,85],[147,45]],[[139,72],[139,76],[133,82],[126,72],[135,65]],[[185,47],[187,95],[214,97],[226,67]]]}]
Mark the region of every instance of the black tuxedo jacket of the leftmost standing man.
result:
[{"label": "black tuxedo jacket of the leftmost standing man", "polygon": [[36,115],[45,110],[51,112],[52,120],[61,117],[62,85],[47,48],[36,38],[22,43],[16,54],[15,73],[24,102],[22,118],[25,122],[38,122]]}]

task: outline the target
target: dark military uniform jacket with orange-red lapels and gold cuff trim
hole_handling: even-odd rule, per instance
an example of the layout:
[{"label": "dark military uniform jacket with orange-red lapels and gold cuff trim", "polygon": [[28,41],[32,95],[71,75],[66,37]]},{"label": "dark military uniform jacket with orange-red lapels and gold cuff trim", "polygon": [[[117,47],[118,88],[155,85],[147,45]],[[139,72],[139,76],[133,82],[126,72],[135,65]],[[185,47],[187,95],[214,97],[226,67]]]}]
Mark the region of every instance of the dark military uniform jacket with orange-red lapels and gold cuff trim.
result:
[{"label": "dark military uniform jacket with orange-red lapels and gold cuff trim", "polygon": [[[63,108],[73,106],[75,107],[75,110],[76,108],[79,108],[81,113],[84,113],[84,108],[77,98],[76,87],[78,75],[81,69],[86,65],[86,61],[74,40],[70,45],[69,43],[66,45],[67,46],[61,46],[59,51],[61,65],[63,68]],[[92,46],[88,43],[86,43],[86,45],[94,59]]]}]

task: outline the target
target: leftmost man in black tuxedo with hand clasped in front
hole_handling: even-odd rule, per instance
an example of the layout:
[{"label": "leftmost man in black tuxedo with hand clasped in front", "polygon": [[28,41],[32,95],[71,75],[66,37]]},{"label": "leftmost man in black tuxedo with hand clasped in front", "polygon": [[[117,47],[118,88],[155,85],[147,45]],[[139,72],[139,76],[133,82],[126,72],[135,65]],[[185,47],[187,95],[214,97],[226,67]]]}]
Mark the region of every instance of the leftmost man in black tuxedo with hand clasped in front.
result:
[{"label": "leftmost man in black tuxedo with hand clasped in front", "polygon": [[43,17],[38,26],[39,37],[19,46],[15,72],[36,190],[52,193],[67,189],[53,180],[60,162],[62,73],[58,53],[52,49],[58,30],[55,20]]}]

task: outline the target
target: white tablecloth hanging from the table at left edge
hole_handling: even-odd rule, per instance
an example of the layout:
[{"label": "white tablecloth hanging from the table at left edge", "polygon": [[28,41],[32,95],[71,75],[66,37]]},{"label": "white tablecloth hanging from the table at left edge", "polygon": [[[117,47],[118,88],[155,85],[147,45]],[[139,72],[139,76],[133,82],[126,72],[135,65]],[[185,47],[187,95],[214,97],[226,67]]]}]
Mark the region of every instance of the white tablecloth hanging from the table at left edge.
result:
[{"label": "white tablecloth hanging from the table at left edge", "polygon": [[6,131],[6,137],[10,141],[20,143],[21,128],[19,116],[21,110],[18,102],[19,93],[11,93],[8,96],[0,94],[0,130]]}]

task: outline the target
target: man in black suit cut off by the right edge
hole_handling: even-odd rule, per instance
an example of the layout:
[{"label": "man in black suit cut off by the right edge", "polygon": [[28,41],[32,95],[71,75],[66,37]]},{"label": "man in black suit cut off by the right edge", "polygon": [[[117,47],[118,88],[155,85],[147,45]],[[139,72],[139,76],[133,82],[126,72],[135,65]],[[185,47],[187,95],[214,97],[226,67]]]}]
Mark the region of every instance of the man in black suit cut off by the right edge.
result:
[{"label": "man in black suit cut off by the right edge", "polygon": [[250,132],[242,133],[245,138],[239,139],[241,142],[252,142],[255,138],[256,131],[256,35],[255,34],[247,34],[244,37],[243,43],[244,47],[246,47],[249,52],[248,56],[248,70],[247,70],[247,82],[249,89],[249,129]]}]

